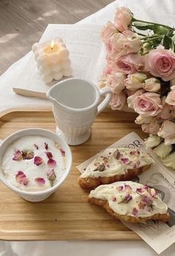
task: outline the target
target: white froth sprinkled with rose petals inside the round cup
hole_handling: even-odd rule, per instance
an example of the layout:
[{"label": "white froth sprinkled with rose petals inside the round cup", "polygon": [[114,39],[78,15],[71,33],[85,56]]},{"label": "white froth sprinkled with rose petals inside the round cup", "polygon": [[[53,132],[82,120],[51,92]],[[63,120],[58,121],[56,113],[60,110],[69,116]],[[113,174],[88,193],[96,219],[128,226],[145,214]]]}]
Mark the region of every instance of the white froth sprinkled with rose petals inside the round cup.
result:
[{"label": "white froth sprinkled with rose petals inside the round cup", "polygon": [[[45,149],[45,143],[48,144],[48,149]],[[38,149],[36,149],[34,144],[38,146]],[[34,157],[42,157],[42,163],[36,166],[36,164],[34,164],[34,157],[25,160],[13,160],[14,154],[17,151],[34,152]],[[48,156],[45,152],[51,152],[53,156],[51,158],[56,161],[57,164],[53,168],[48,167]],[[20,190],[42,191],[51,187],[51,183],[47,175],[49,170],[54,169],[54,173],[56,175],[54,184],[59,181],[66,169],[66,157],[62,155],[54,140],[41,136],[25,136],[16,140],[6,150],[1,160],[1,169],[7,181]],[[29,182],[27,185],[20,184],[19,181],[16,180],[16,174],[19,171],[24,172],[26,178],[28,178]],[[38,184],[35,178],[43,178],[45,180],[45,184]]]}]

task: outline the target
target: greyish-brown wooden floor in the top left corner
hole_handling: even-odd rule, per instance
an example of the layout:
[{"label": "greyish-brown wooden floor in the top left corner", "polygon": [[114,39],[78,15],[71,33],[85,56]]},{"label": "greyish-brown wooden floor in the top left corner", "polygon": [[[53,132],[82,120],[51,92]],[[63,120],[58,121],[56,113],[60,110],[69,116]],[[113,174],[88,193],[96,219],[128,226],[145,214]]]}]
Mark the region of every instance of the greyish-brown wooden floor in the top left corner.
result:
[{"label": "greyish-brown wooden floor in the top left corner", "polygon": [[112,0],[0,0],[0,75],[31,50],[48,23],[75,23]]}]

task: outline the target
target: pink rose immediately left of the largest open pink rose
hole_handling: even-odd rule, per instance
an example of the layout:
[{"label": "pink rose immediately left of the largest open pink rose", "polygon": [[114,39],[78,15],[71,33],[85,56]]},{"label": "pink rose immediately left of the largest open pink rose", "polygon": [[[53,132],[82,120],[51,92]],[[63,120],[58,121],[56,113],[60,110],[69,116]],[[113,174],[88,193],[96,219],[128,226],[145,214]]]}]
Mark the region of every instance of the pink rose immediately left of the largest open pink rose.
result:
[{"label": "pink rose immediately left of the largest open pink rose", "polygon": [[137,71],[143,71],[144,57],[139,54],[127,54],[113,61],[112,67],[115,71],[123,72],[125,74],[133,74]]}]

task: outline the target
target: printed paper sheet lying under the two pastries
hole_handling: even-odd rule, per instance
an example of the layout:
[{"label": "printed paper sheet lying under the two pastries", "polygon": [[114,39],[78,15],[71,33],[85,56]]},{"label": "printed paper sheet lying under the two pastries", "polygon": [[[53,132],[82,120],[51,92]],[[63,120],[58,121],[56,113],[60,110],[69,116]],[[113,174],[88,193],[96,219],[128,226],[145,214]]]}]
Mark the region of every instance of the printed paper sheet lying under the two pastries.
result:
[{"label": "printed paper sheet lying under the two pastries", "polygon": [[[127,134],[127,136],[121,138],[121,140],[118,140],[108,148],[112,149],[117,146],[124,146],[129,149],[141,149],[143,151],[146,150],[143,140],[141,140],[135,132]],[[101,154],[101,152],[98,154]],[[80,173],[84,172],[89,163],[91,163],[98,154],[77,166]],[[136,176],[133,181],[147,184],[156,190],[162,201],[168,205],[168,213],[171,216],[171,220],[168,223],[148,221],[146,223],[132,224],[124,222],[124,225],[135,231],[136,234],[139,234],[147,244],[160,254],[175,242],[175,172],[173,170],[170,172],[170,169],[166,169],[165,166],[162,168],[162,163],[155,158],[153,151],[150,152],[150,155],[155,162],[151,164],[146,172]],[[162,241],[164,242],[162,243]]]}]

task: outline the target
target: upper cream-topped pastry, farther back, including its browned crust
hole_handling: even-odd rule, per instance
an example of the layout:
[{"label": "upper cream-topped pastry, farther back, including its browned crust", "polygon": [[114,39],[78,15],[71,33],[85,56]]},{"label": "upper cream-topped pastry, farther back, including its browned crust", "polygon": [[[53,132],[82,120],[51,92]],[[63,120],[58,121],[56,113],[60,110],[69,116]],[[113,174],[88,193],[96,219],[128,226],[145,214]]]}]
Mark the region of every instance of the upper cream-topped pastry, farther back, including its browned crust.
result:
[{"label": "upper cream-topped pastry, farther back, including its browned crust", "polygon": [[92,189],[101,184],[129,181],[153,163],[149,154],[136,149],[106,149],[87,166],[78,180],[81,187]]}]

